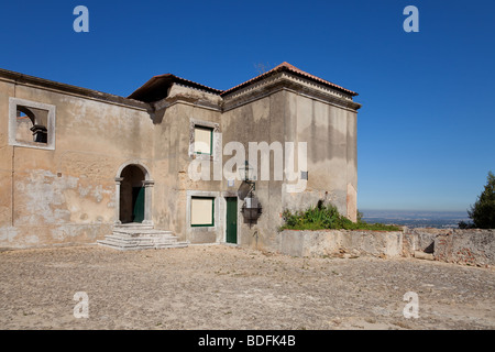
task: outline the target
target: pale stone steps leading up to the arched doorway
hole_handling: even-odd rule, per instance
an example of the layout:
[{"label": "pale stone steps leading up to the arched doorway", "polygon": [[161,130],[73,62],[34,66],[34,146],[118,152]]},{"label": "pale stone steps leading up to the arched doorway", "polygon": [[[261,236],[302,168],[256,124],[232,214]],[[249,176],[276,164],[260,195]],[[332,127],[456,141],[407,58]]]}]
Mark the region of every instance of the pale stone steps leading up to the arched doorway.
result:
[{"label": "pale stone steps leading up to the arched doorway", "polygon": [[187,242],[178,242],[172,231],[155,230],[153,226],[141,223],[114,226],[113,233],[97,243],[120,251],[180,249],[188,245]]}]

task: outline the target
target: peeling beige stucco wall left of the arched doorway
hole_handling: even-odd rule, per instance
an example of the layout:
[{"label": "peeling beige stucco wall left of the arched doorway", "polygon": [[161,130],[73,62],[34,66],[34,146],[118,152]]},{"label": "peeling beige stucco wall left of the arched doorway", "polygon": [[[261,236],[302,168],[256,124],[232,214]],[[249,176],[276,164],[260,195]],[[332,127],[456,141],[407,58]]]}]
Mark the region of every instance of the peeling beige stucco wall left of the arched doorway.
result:
[{"label": "peeling beige stucco wall left of the arched doorway", "polygon": [[55,150],[2,146],[0,246],[102,239],[116,220],[119,166],[153,160],[146,110],[23,85],[0,88],[2,127],[9,96],[56,107]]}]

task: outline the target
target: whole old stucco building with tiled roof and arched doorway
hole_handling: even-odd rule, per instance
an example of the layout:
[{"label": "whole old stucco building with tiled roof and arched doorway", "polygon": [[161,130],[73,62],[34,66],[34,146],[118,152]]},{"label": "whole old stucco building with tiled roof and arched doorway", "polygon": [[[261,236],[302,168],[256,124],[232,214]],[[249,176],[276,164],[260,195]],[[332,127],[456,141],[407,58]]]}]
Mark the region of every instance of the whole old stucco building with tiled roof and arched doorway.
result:
[{"label": "whole old stucco building with tiled roof and arched doorway", "polygon": [[155,76],[128,98],[0,69],[0,248],[263,248],[284,209],[319,199],[355,220],[354,96],[287,63],[228,90]]}]

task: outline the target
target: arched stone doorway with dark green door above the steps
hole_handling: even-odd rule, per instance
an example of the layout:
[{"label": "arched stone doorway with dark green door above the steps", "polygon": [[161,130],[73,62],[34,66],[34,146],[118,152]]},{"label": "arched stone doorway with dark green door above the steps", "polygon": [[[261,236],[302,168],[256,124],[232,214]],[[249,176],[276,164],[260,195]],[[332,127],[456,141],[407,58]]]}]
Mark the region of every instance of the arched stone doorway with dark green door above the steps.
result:
[{"label": "arched stone doorway with dark green door above the steps", "polygon": [[116,223],[153,224],[154,182],[146,166],[132,162],[122,165],[116,177]]}]

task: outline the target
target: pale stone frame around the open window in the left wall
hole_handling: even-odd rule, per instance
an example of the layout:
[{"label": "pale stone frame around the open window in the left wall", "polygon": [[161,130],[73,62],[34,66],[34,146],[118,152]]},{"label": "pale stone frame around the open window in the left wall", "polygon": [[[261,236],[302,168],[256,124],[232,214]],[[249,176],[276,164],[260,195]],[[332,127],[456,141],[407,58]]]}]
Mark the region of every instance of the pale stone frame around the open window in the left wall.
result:
[{"label": "pale stone frame around the open window in the left wall", "polygon": [[[47,117],[47,142],[46,143],[36,143],[36,142],[24,142],[16,140],[16,131],[18,131],[18,107],[26,107],[40,110],[48,111]],[[38,150],[55,150],[55,116],[56,116],[56,107],[53,105],[32,101],[21,98],[9,97],[9,145],[14,146],[23,146],[23,147],[33,147]]]}]

